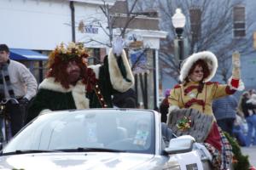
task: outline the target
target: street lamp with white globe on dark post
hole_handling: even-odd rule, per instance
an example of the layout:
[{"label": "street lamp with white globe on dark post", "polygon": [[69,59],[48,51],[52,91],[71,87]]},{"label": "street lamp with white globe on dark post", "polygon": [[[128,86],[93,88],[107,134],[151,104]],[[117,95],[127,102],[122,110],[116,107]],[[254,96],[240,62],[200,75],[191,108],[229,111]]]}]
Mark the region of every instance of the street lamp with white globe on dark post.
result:
[{"label": "street lamp with white globe on dark post", "polygon": [[177,34],[177,44],[178,44],[178,59],[179,61],[183,60],[183,27],[186,23],[186,17],[182,13],[182,10],[180,8],[177,8],[176,13],[172,16],[172,25],[175,28],[176,34]]}]

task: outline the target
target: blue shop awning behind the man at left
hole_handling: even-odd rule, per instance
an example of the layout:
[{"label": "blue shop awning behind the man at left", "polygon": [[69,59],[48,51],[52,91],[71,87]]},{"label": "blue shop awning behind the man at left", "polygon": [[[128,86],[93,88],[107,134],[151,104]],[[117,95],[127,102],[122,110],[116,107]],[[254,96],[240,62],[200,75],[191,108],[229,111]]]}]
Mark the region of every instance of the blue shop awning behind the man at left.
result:
[{"label": "blue shop awning behind the man at left", "polygon": [[47,60],[48,56],[30,49],[10,48],[10,59],[17,60]]}]

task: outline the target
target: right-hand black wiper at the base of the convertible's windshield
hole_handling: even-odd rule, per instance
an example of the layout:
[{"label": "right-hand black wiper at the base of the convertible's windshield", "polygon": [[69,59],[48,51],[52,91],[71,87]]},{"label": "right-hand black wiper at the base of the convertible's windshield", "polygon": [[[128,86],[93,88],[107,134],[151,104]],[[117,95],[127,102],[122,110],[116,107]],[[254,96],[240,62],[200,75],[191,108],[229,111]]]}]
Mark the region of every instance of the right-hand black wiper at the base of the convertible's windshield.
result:
[{"label": "right-hand black wiper at the base of the convertible's windshield", "polygon": [[125,150],[113,150],[108,148],[82,148],[79,147],[77,149],[67,149],[67,150],[61,150],[65,152],[125,152]]}]

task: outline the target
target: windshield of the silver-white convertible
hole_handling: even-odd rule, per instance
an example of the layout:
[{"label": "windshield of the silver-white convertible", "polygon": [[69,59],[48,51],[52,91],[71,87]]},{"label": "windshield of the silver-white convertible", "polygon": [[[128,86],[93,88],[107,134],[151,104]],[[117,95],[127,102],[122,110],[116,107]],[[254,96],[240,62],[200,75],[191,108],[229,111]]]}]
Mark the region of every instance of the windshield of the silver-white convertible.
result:
[{"label": "windshield of the silver-white convertible", "polygon": [[7,144],[3,154],[17,150],[118,150],[154,154],[154,139],[153,111],[56,111],[29,124]]}]

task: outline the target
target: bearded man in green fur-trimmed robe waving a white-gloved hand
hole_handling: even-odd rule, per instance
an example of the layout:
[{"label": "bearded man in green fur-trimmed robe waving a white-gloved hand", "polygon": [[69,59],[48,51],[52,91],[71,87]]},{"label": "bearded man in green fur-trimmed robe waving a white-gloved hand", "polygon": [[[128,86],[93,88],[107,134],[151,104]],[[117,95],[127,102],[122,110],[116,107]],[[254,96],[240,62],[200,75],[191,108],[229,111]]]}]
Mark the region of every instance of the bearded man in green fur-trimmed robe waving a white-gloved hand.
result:
[{"label": "bearded man in green fur-trimmed robe waving a white-gloved hand", "polygon": [[117,38],[103,65],[87,65],[88,54],[75,43],[57,46],[49,54],[49,71],[38,87],[26,122],[49,111],[113,107],[111,95],[134,83],[131,67]]}]

